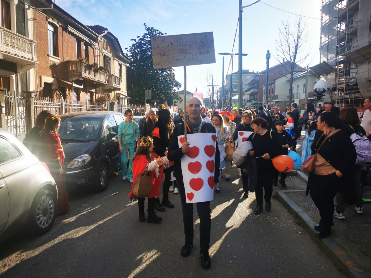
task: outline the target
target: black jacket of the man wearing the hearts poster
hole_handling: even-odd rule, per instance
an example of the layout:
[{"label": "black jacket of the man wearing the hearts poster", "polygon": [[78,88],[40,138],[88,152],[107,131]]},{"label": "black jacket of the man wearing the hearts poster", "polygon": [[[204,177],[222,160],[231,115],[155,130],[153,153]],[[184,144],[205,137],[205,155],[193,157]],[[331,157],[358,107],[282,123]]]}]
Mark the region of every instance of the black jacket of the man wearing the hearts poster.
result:
[{"label": "black jacket of the man wearing the hearts poster", "polygon": [[[215,128],[211,123],[203,122],[200,133],[216,133]],[[191,131],[187,129],[187,134],[191,134]],[[182,165],[180,159],[183,157],[184,153],[182,148],[178,146],[178,136],[184,135],[184,123],[175,126],[173,130],[173,135],[171,135],[170,146],[167,153],[167,158],[170,161],[174,161],[174,177],[183,180]],[[220,166],[220,153],[218,144],[215,146],[215,171],[214,171],[214,182],[219,182],[219,169]]]}]

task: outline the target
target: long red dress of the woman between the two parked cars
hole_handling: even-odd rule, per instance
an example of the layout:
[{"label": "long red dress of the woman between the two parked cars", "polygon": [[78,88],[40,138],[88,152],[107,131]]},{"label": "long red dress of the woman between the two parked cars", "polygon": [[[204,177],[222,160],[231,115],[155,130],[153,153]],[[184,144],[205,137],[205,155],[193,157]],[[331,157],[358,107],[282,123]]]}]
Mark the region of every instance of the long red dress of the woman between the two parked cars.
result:
[{"label": "long red dress of the woman between the two parked cars", "polygon": [[59,169],[63,168],[65,160],[65,153],[60,144],[58,135],[49,133],[44,137],[45,151],[46,151],[46,165],[49,167],[55,183],[58,188],[57,208],[58,215],[65,214],[70,209],[68,196],[66,191],[66,183],[64,175],[59,175]]}]

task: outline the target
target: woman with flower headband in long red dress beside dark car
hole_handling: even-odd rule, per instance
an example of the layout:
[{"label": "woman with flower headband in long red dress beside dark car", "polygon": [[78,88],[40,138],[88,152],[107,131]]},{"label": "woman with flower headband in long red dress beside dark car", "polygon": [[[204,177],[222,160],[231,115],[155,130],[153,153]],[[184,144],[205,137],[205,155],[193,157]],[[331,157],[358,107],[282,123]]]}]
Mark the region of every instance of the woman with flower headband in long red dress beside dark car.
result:
[{"label": "woman with flower headband in long red dress beside dark car", "polygon": [[49,167],[55,183],[58,188],[58,215],[68,212],[70,205],[66,191],[66,183],[63,171],[63,162],[65,153],[59,140],[59,123],[60,119],[52,115],[45,119],[45,125],[42,136],[44,136],[45,145],[45,163]]}]

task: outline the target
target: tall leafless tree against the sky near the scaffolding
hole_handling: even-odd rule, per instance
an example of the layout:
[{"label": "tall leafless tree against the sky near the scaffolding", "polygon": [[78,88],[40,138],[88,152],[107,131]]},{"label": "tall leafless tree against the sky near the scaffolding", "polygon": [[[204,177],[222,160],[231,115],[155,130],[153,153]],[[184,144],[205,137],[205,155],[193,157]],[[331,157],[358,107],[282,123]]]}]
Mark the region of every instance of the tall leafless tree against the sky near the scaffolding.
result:
[{"label": "tall leafless tree against the sky near the scaffolding", "polygon": [[[295,20],[294,27],[291,28],[289,19],[282,20],[282,26],[278,27],[278,39],[275,40],[276,59],[286,69],[286,76],[290,78],[289,97],[292,103],[292,83],[294,73],[298,69],[302,69],[299,64],[305,63],[309,56],[304,45],[308,40],[308,28],[306,21],[302,17]],[[283,59],[287,62],[283,63]]]}]

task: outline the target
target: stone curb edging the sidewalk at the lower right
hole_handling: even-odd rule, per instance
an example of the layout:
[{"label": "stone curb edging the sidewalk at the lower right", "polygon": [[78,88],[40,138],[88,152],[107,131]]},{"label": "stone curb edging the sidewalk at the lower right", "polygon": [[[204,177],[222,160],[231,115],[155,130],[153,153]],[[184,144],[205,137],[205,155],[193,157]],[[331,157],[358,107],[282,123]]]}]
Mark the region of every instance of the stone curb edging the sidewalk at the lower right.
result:
[{"label": "stone curb edging the sidewalk at the lower right", "polygon": [[[301,171],[298,171],[301,172]],[[299,174],[298,174],[299,177]],[[304,177],[303,177],[304,178]],[[308,178],[307,178],[308,179]],[[363,271],[363,269],[350,258],[339,245],[335,243],[330,237],[320,239],[315,236],[316,232],[314,229],[315,222],[305,213],[294,201],[292,201],[285,192],[305,192],[305,190],[298,191],[277,191],[276,196],[282,202],[288,211],[299,219],[301,226],[308,232],[308,235],[313,241],[321,248],[321,250],[334,262],[336,267],[344,271],[349,278],[370,278],[370,276]]]}]

